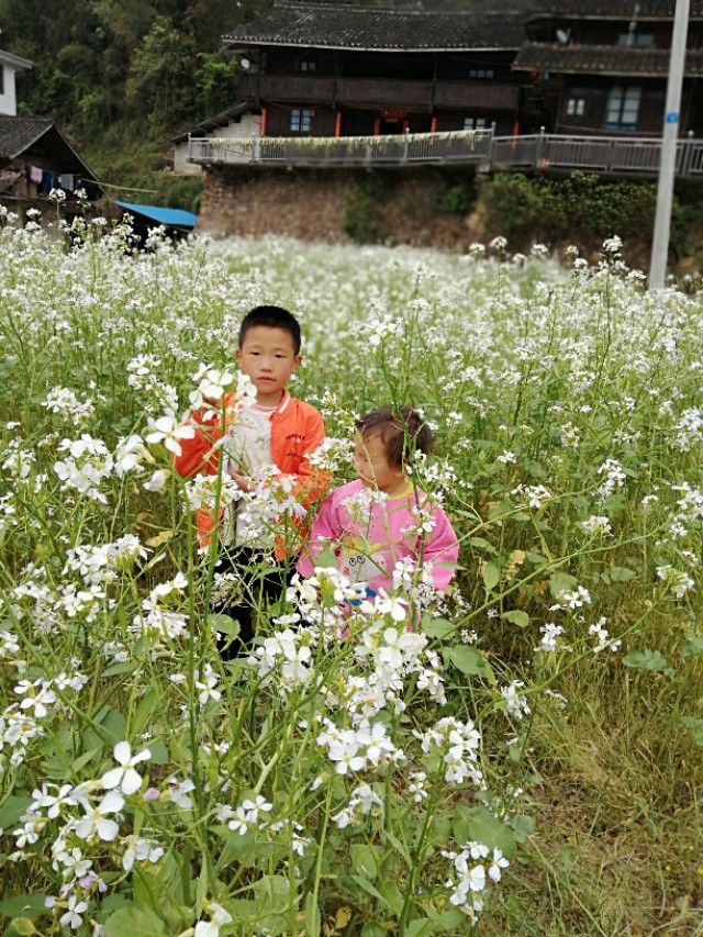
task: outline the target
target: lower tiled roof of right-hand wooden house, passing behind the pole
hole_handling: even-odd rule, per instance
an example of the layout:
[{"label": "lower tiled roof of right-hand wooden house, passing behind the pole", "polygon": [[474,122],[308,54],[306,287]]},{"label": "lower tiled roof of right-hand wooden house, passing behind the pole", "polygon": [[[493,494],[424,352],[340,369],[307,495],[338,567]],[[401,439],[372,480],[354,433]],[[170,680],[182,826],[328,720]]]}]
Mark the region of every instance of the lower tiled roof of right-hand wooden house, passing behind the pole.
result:
[{"label": "lower tiled roof of right-hand wooden house, passing behind the pole", "polygon": [[[624,48],[612,45],[550,45],[531,43],[524,46],[513,63],[523,71],[555,71],[572,75],[640,75],[663,76],[669,71],[669,49]],[[703,51],[688,52],[687,77],[703,76]]]}]

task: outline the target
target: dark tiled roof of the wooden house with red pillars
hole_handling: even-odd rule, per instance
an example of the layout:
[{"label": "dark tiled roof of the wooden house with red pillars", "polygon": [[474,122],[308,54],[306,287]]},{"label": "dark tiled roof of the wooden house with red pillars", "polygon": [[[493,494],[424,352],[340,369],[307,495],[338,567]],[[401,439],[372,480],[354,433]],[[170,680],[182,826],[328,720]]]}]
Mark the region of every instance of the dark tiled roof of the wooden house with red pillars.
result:
[{"label": "dark tiled roof of the wooden house with red pillars", "polygon": [[524,12],[428,13],[342,3],[279,2],[223,36],[226,45],[288,45],[383,52],[517,49]]}]

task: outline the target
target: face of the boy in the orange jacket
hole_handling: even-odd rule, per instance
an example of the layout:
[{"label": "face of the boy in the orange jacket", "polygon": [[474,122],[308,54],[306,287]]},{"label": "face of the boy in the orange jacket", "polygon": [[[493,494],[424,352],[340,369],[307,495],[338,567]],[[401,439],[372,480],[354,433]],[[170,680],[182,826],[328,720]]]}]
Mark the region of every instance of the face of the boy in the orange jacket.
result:
[{"label": "face of the boy in the orange jacket", "polygon": [[270,325],[247,330],[235,357],[242,372],[252,378],[256,402],[261,406],[280,403],[283,388],[301,362],[290,332]]}]

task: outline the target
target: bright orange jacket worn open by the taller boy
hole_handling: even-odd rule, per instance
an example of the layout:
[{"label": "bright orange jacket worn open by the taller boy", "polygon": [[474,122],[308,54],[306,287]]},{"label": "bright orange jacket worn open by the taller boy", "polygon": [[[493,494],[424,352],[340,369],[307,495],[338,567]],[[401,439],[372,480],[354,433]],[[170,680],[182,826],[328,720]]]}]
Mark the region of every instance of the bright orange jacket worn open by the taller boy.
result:
[{"label": "bright orange jacket worn open by the taller boy", "polygon": [[[225,397],[225,410],[235,413],[234,394]],[[203,471],[216,475],[222,448],[214,448],[214,444],[222,437],[222,413],[203,420],[200,411],[196,411],[189,422],[194,426],[196,435],[192,439],[180,440],[181,455],[174,456],[176,471],[185,478]],[[224,430],[225,433],[228,430],[226,421]],[[330,486],[328,472],[314,468],[308,461],[308,456],[314,453],[324,437],[325,427],[320,412],[283,390],[283,397],[271,414],[271,461],[282,475],[295,477],[295,498],[304,506],[322,498]],[[304,522],[295,520],[294,523],[304,536]],[[207,507],[200,509],[196,512],[196,524],[200,546],[205,547],[214,527],[212,512]],[[277,559],[286,556],[286,548],[278,540],[275,553]]]}]

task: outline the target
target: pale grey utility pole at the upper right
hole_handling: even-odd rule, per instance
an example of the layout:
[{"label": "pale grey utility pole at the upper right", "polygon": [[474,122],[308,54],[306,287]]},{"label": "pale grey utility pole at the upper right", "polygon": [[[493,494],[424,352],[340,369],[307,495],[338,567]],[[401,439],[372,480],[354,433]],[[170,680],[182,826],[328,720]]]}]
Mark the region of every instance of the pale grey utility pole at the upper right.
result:
[{"label": "pale grey utility pole at the upper right", "polygon": [[671,202],[673,200],[673,177],[676,174],[677,142],[679,138],[679,111],[681,108],[681,86],[685,65],[685,41],[689,31],[690,0],[676,0],[673,35],[671,36],[671,56],[669,58],[669,79],[667,82],[667,103],[661,133],[661,160],[657,183],[657,211],[651,242],[649,263],[649,289],[663,289],[667,276],[667,255],[671,231]]}]

